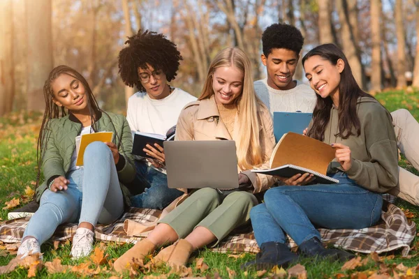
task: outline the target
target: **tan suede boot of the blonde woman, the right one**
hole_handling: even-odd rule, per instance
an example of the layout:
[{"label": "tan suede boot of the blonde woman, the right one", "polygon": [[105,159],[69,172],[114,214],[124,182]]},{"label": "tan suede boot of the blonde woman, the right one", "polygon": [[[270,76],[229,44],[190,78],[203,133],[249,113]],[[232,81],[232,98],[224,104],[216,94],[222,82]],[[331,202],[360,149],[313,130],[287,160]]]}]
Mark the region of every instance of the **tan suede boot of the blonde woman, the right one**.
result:
[{"label": "tan suede boot of the blonde woman, the right one", "polygon": [[191,243],[184,239],[180,239],[177,243],[161,250],[159,254],[154,257],[154,262],[156,262],[156,264],[163,264],[166,262],[169,266],[184,266],[188,262],[192,252],[193,247]]}]

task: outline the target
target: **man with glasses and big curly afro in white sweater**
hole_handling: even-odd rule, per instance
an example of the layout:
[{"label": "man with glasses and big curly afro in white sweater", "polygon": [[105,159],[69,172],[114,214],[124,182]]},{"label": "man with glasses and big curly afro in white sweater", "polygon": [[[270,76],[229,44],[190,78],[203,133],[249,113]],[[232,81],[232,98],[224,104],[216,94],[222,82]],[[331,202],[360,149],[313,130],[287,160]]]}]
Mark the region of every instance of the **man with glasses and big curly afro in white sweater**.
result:
[{"label": "man with glasses and big curly afro in white sweater", "polygon": [[[126,119],[133,133],[166,135],[176,125],[182,108],[194,100],[182,89],[173,88],[182,60],[177,47],[163,34],[138,31],[126,41],[128,45],[119,52],[119,73],[124,83],[136,86],[138,92],[128,100]],[[145,190],[131,198],[135,207],[163,209],[183,194],[168,188],[163,146],[149,146],[144,151],[150,158],[135,158],[137,176],[131,185]]]}]

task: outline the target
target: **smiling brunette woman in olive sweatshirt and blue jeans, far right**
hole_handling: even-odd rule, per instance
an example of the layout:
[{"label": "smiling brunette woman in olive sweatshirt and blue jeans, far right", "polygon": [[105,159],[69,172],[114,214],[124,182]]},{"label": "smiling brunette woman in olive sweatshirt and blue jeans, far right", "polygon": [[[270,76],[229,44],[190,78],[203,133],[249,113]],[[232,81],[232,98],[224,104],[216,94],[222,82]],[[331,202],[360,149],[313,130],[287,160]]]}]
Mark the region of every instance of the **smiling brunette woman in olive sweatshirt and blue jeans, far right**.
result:
[{"label": "smiling brunette woman in olive sweatshirt and blue jeans, far right", "polygon": [[[337,184],[304,186],[311,179],[281,179],[288,186],[267,190],[265,203],[253,207],[251,222],[261,252],[258,269],[286,266],[298,257],[286,246],[286,234],[300,254],[345,261],[348,252],[325,249],[316,227],[361,229],[381,216],[381,193],[398,182],[397,142],[390,113],[356,83],[338,47],[320,45],[302,59],[317,94],[307,136],[335,147],[328,176]],[[301,183],[302,182],[302,183]]]}]

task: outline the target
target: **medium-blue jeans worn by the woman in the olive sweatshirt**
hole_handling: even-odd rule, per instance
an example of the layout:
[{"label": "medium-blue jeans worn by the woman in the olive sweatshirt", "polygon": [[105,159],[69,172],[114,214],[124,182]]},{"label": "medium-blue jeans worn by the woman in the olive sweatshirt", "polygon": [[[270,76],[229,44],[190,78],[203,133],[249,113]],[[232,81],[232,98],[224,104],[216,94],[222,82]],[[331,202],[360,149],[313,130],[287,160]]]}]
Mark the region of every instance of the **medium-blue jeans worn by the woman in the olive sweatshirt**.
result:
[{"label": "medium-blue jeans worn by the woman in the olive sweatshirt", "polygon": [[285,243],[285,233],[300,245],[313,237],[321,240],[316,227],[362,229],[378,222],[383,205],[380,194],[358,186],[343,172],[330,176],[340,182],[267,190],[265,203],[250,212],[258,245]]}]

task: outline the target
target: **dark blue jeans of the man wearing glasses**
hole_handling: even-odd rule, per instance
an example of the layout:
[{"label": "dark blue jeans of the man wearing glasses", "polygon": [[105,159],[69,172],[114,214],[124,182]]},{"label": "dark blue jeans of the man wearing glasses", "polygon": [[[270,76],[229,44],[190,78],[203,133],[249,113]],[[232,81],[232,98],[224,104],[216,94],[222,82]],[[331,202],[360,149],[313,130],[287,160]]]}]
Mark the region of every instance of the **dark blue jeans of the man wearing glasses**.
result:
[{"label": "dark blue jeans of the man wearing glasses", "polygon": [[168,188],[168,176],[148,167],[145,161],[135,160],[135,168],[137,176],[133,183],[145,184],[145,192],[131,197],[131,206],[161,210],[183,195],[182,191]]}]

